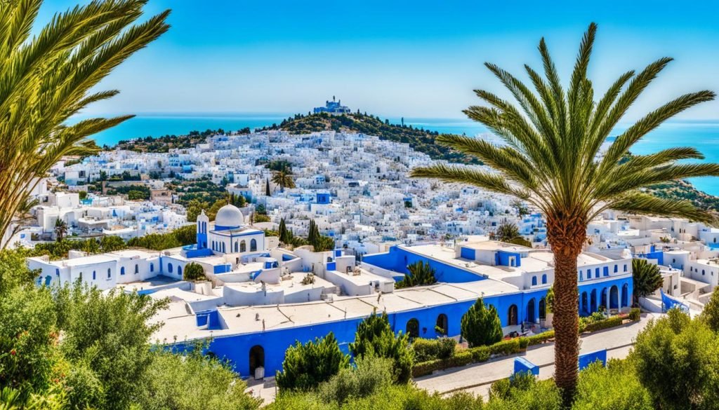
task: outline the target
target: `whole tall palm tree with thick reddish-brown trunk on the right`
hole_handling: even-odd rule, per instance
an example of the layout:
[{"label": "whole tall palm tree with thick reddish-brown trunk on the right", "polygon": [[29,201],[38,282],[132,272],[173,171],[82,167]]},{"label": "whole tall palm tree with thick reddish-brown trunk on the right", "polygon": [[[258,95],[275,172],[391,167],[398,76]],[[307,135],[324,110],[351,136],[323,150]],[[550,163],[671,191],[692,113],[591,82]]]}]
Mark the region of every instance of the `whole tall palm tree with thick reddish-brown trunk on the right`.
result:
[{"label": "whole tall palm tree with thick reddish-brown trunk on the right", "polygon": [[596,28],[590,24],[582,39],[566,90],[544,39],[539,42],[544,78],[525,66],[535,91],[497,65],[485,64],[518,106],[488,91],[476,90],[488,106],[472,106],[464,113],[487,126],[505,144],[455,135],[442,135],[436,141],[477,157],[495,172],[444,163],[412,172],[413,177],[460,182],[510,195],[544,213],[547,240],[554,252],[554,379],[562,388],[565,405],[571,403],[577,384],[577,256],[585,243],[587,223],[606,209],[709,223],[713,215],[695,208],[692,202],[653,197],[642,193],[641,188],[719,174],[719,164],[677,164],[680,159],[703,158],[693,148],[626,158],[633,144],[667,118],[713,100],[711,91],[682,95],[659,106],[600,153],[618,121],[672,59],[661,58],[639,73],[628,71],[595,101],[587,66]]}]

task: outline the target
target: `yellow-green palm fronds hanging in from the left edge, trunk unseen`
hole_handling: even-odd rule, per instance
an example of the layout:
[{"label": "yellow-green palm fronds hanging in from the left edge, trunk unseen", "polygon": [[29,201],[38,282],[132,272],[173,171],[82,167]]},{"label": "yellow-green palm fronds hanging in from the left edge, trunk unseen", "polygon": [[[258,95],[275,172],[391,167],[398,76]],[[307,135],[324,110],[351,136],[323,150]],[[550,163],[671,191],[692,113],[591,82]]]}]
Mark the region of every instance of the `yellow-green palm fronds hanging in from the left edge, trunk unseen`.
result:
[{"label": "yellow-green palm fronds hanging in from the left edge, trunk unseen", "polygon": [[88,104],[116,95],[93,87],[168,29],[169,10],[134,24],[145,3],[92,1],[55,14],[31,37],[42,0],[0,1],[0,232],[53,164],[96,152],[88,136],[131,118],[65,124]]}]

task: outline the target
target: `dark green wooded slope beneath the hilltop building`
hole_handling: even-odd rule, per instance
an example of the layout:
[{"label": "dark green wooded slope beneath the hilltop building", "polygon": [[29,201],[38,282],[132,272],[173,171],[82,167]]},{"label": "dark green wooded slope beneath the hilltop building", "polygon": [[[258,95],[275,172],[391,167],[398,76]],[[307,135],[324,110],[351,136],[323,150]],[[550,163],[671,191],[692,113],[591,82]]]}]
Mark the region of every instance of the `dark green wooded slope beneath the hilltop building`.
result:
[{"label": "dark green wooded slope beneath the hilltop building", "polygon": [[302,115],[287,118],[280,124],[265,127],[257,131],[283,130],[292,134],[310,134],[316,131],[342,129],[360,132],[367,135],[376,135],[387,141],[403,142],[409,144],[415,151],[423,152],[432,159],[444,159],[449,162],[464,164],[479,164],[476,158],[467,157],[445,146],[434,144],[439,135],[437,131],[428,131],[413,126],[390,124],[389,120],[382,121],[380,117],[371,114],[350,113],[342,116],[331,116],[327,113]]}]

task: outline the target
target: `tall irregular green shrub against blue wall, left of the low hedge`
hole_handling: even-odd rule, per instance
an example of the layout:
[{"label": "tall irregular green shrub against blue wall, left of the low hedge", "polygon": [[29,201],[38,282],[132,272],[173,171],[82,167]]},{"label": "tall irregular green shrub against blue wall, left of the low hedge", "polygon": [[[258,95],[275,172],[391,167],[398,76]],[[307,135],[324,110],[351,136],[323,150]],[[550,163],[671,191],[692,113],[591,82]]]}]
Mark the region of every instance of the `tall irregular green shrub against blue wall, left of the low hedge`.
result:
[{"label": "tall irregular green shrub against blue wall, left of the low hedge", "polygon": [[390,358],[394,362],[395,381],[407,383],[411,378],[413,352],[409,346],[409,337],[401,332],[395,337],[386,312],[382,315],[373,313],[359,322],[354,343],[349,343],[349,351],[354,358],[363,358],[365,355]]}]

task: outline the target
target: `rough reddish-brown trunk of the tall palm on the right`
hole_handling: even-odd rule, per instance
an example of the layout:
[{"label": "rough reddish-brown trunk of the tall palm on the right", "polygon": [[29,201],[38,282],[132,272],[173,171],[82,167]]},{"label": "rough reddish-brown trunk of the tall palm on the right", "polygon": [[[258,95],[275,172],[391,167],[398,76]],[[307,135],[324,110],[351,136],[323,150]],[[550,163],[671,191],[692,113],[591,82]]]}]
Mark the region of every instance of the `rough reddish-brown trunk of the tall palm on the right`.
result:
[{"label": "rough reddish-brown trunk of the tall palm on the right", "polygon": [[554,381],[566,409],[574,400],[579,375],[577,256],[586,226],[583,218],[547,218],[547,239],[554,252]]}]

